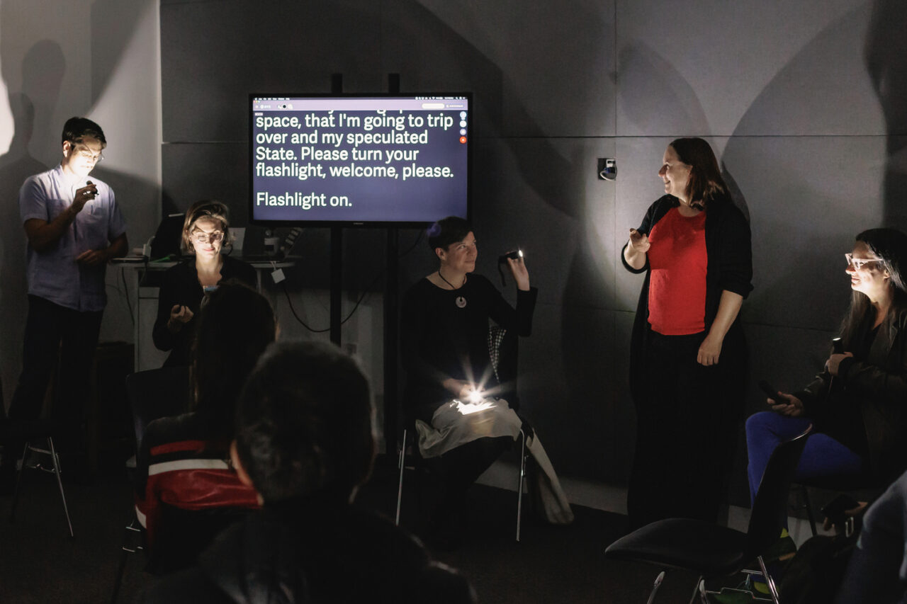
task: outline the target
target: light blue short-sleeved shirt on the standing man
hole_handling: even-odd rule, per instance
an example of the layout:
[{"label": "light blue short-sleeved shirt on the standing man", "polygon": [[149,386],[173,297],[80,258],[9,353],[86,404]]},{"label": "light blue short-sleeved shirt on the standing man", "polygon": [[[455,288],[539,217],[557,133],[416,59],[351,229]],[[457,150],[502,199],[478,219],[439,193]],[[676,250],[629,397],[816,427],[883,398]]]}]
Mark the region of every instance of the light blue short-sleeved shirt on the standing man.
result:
[{"label": "light blue short-sleeved shirt on the standing man", "polygon": [[103,310],[107,304],[106,265],[86,267],[75,258],[88,249],[107,248],[126,231],[113,190],[91,175],[68,176],[62,166],[29,177],[19,190],[23,224],[29,219],[51,222],[69,208],[75,190],[88,180],[97,186],[97,197],[85,204],[54,246],[43,252],[28,246],[26,254],[28,293],[79,311]]}]

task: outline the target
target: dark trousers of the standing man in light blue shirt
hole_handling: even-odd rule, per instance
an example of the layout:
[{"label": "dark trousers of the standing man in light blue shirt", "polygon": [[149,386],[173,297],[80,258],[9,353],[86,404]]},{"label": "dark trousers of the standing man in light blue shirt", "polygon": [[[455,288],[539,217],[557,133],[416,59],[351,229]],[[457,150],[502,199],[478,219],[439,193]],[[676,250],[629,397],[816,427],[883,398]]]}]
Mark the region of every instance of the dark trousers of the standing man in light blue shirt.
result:
[{"label": "dark trousers of the standing man in light blue shirt", "polygon": [[[51,419],[66,426],[62,448],[78,446],[85,404],[91,393],[94,349],[98,344],[103,311],[80,312],[43,297],[28,297],[28,319],[22,356],[22,374],[9,407],[15,425],[41,416],[44,394],[57,369],[57,388]],[[59,362],[59,365],[58,365]],[[24,443],[11,439],[16,455]],[[14,448],[16,447],[16,448]]]}]

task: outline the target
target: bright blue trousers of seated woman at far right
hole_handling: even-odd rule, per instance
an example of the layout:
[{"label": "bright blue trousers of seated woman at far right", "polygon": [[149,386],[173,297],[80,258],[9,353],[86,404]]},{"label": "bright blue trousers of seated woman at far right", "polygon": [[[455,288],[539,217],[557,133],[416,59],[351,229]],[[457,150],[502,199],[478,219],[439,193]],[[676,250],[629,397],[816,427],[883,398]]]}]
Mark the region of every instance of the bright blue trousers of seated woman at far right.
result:
[{"label": "bright blue trousers of seated woman at far right", "polygon": [[[746,420],[746,453],[749,457],[746,473],[750,503],[756,498],[759,482],[775,447],[802,433],[812,423],[807,417],[788,417],[774,411],[749,416]],[[794,479],[859,475],[866,472],[866,465],[863,457],[828,434],[813,432],[806,441]]]}]

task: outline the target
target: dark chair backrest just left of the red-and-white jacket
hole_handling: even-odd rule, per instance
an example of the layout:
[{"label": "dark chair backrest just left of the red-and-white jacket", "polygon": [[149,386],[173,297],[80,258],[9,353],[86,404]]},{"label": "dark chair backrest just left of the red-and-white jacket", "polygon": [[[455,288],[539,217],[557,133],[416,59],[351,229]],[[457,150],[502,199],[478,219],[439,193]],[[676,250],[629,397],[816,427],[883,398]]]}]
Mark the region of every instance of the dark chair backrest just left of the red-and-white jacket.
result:
[{"label": "dark chair backrest just left of the red-and-white jacket", "polygon": [[132,407],[135,446],[141,447],[145,426],[152,420],[189,410],[189,367],[161,367],[127,375],[126,395]]}]

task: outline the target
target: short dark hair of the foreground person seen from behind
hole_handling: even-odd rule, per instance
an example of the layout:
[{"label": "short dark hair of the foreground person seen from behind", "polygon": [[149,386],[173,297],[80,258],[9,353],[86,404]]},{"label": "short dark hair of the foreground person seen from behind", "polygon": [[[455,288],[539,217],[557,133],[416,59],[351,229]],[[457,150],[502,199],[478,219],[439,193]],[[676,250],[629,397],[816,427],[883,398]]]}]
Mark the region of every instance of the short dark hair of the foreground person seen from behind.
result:
[{"label": "short dark hair of the foreground person seen from behind", "polygon": [[265,502],[349,502],[375,460],[368,380],[325,342],[268,347],[239,395],[236,448]]}]

